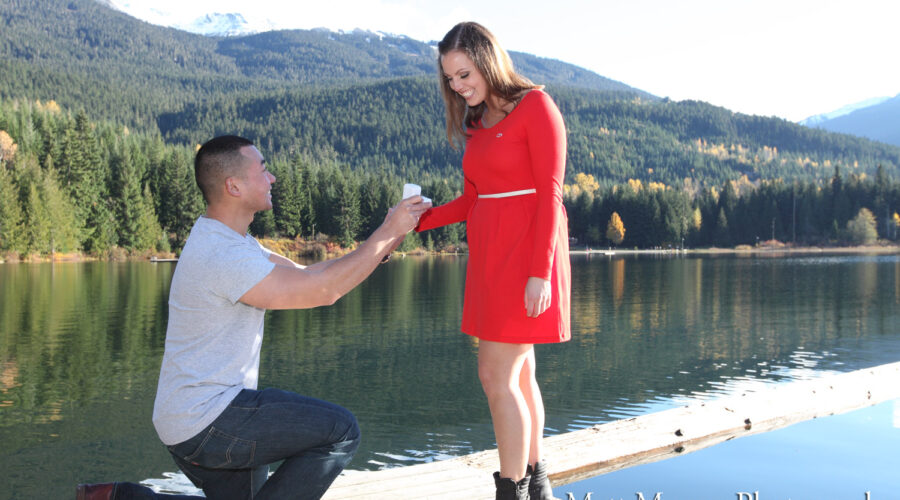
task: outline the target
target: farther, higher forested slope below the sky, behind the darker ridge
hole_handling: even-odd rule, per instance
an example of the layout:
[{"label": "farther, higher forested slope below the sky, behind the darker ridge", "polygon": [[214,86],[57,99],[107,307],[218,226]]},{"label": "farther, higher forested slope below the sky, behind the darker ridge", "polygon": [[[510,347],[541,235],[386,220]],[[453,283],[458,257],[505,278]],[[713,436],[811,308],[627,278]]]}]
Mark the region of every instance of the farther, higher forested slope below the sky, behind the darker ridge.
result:
[{"label": "farther, higher forested slope below the sky, behind the darker ridge", "polygon": [[[434,49],[369,32],[285,30],[206,37],[94,0],[0,2],[0,97],[55,100],[92,118],[153,127],[155,115],[235,92],[433,76]],[[649,94],[561,61],[512,53],[535,81]]]}]

